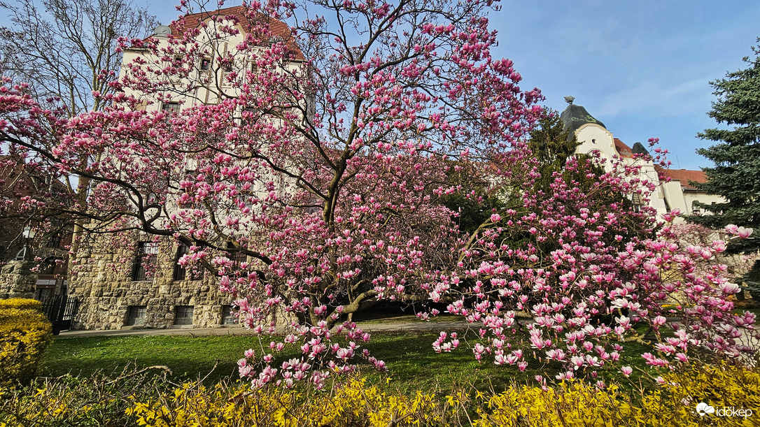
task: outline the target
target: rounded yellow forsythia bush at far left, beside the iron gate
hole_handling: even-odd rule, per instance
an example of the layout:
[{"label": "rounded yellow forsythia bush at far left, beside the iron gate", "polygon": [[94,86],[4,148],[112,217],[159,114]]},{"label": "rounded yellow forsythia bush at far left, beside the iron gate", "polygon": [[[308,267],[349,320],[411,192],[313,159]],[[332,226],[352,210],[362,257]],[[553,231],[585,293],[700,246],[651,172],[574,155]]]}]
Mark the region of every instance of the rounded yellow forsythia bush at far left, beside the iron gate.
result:
[{"label": "rounded yellow forsythia bush at far left, beside the iron gate", "polygon": [[0,387],[29,381],[52,339],[52,326],[36,300],[0,300]]}]

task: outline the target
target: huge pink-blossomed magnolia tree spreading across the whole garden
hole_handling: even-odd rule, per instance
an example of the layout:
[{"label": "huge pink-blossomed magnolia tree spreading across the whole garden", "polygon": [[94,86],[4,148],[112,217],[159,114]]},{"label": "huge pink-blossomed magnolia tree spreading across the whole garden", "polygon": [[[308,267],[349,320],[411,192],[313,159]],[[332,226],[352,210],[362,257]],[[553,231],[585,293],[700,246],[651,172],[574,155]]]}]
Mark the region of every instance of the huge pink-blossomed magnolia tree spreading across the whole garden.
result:
[{"label": "huge pink-blossomed magnolia tree spreading across the whole garden", "polygon": [[[385,369],[347,319],[379,299],[448,305],[480,334],[477,359],[556,361],[562,378],[608,365],[629,374],[619,358],[632,340],[651,344],[654,366],[752,353],[742,340],[754,317],[730,314],[738,288],[720,265],[694,274],[724,244],[681,249],[651,209],[633,209],[629,196],[647,199],[657,184],[640,165],[570,159],[548,187],[534,185],[525,139],[541,96],[490,56],[492,3],[188,14],[166,38],[123,40],[139,55],[114,93],[97,94],[103,111],[66,119],[5,83],[0,135],[95,183],[89,209],[66,212],[93,234],[184,243],[179,263],[214,272],[242,325],[271,334],[285,320],[285,334],[239,361],[254,385],[320,386],[359,358]],[[83,154],[99,161],[81,165]],[[464,231],[452,199],[499,203]],[[302,356],[277,360],[292,345]],[[442,334],[433,347],[461,341]]]}]

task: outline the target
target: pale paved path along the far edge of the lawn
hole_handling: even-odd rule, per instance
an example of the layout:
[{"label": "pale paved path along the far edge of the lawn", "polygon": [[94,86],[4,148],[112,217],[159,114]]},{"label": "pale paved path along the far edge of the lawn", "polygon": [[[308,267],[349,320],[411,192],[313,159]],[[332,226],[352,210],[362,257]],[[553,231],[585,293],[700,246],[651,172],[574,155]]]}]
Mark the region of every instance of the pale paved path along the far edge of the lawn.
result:
[{"label": "pale paved path along the far edge of the lawn", "polygon": [[[457,331],[467,328],[466,322],[404,322],[404,323],[358,323],[359,328],[369,332],[394,331]],[[168,328],[168,329],[113,329],[105,331],[62,331],[59,337],[128,337],[131,335],[185,335],[206,337],[217,335],[252,335],[244,328]]]}]

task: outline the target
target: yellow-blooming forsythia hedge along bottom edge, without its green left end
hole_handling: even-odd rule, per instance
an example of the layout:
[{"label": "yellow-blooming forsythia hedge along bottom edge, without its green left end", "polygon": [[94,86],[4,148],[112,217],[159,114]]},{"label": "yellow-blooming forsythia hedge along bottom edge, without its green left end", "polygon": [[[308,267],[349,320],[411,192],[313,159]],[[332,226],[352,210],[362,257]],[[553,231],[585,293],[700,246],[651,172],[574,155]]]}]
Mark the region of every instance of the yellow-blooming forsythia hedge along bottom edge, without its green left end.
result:
[{"label": "yellow-blooming forsythia hedge along bottom edge, without its green left end", "polygon": [[[150,427],[760,425],[758,369],[694,366],[666,375],[664,381],[638,393],[565,381],[546,389],[515,385],[499,394],[462,389],[448,396],[421,391],[407,396],[359,378],[331,391],[252,391],[193,383],[147,402],[135,400],[127,413],[138,425]],[[716,413],[699,415],[701,402]],[[721,414],[723,407],[734,410]],[[739,409],[753,412],[741,416]]]}]

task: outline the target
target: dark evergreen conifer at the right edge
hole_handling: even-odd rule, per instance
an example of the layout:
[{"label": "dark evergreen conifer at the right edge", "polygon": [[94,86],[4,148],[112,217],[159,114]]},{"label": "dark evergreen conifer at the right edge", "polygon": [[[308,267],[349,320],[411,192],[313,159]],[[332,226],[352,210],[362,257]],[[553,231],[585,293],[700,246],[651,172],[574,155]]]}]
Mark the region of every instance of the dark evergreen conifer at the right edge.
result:
[{"label": "dark evergreen conifer at the right edge", "polygon": [[[710,82],[717,101],[708,115],[725,126],[698,134],[703,140],[717,143],[697,150],[715,165],[702,168],[708,177],[706,183],[695,184],[699,190],[723,196],[726,201],[701,204],[713,215],[690,216],[689,220],[711,228],[736,224],[760,231],[760,46],[753,47],[752,52],[754,57],[743,58],[747,68]],[[760,239],[734,239],[729,249],[733,253],[755,252],[760,250]],[[755,263],[746,279],[758,274],[760,262]]]}]

